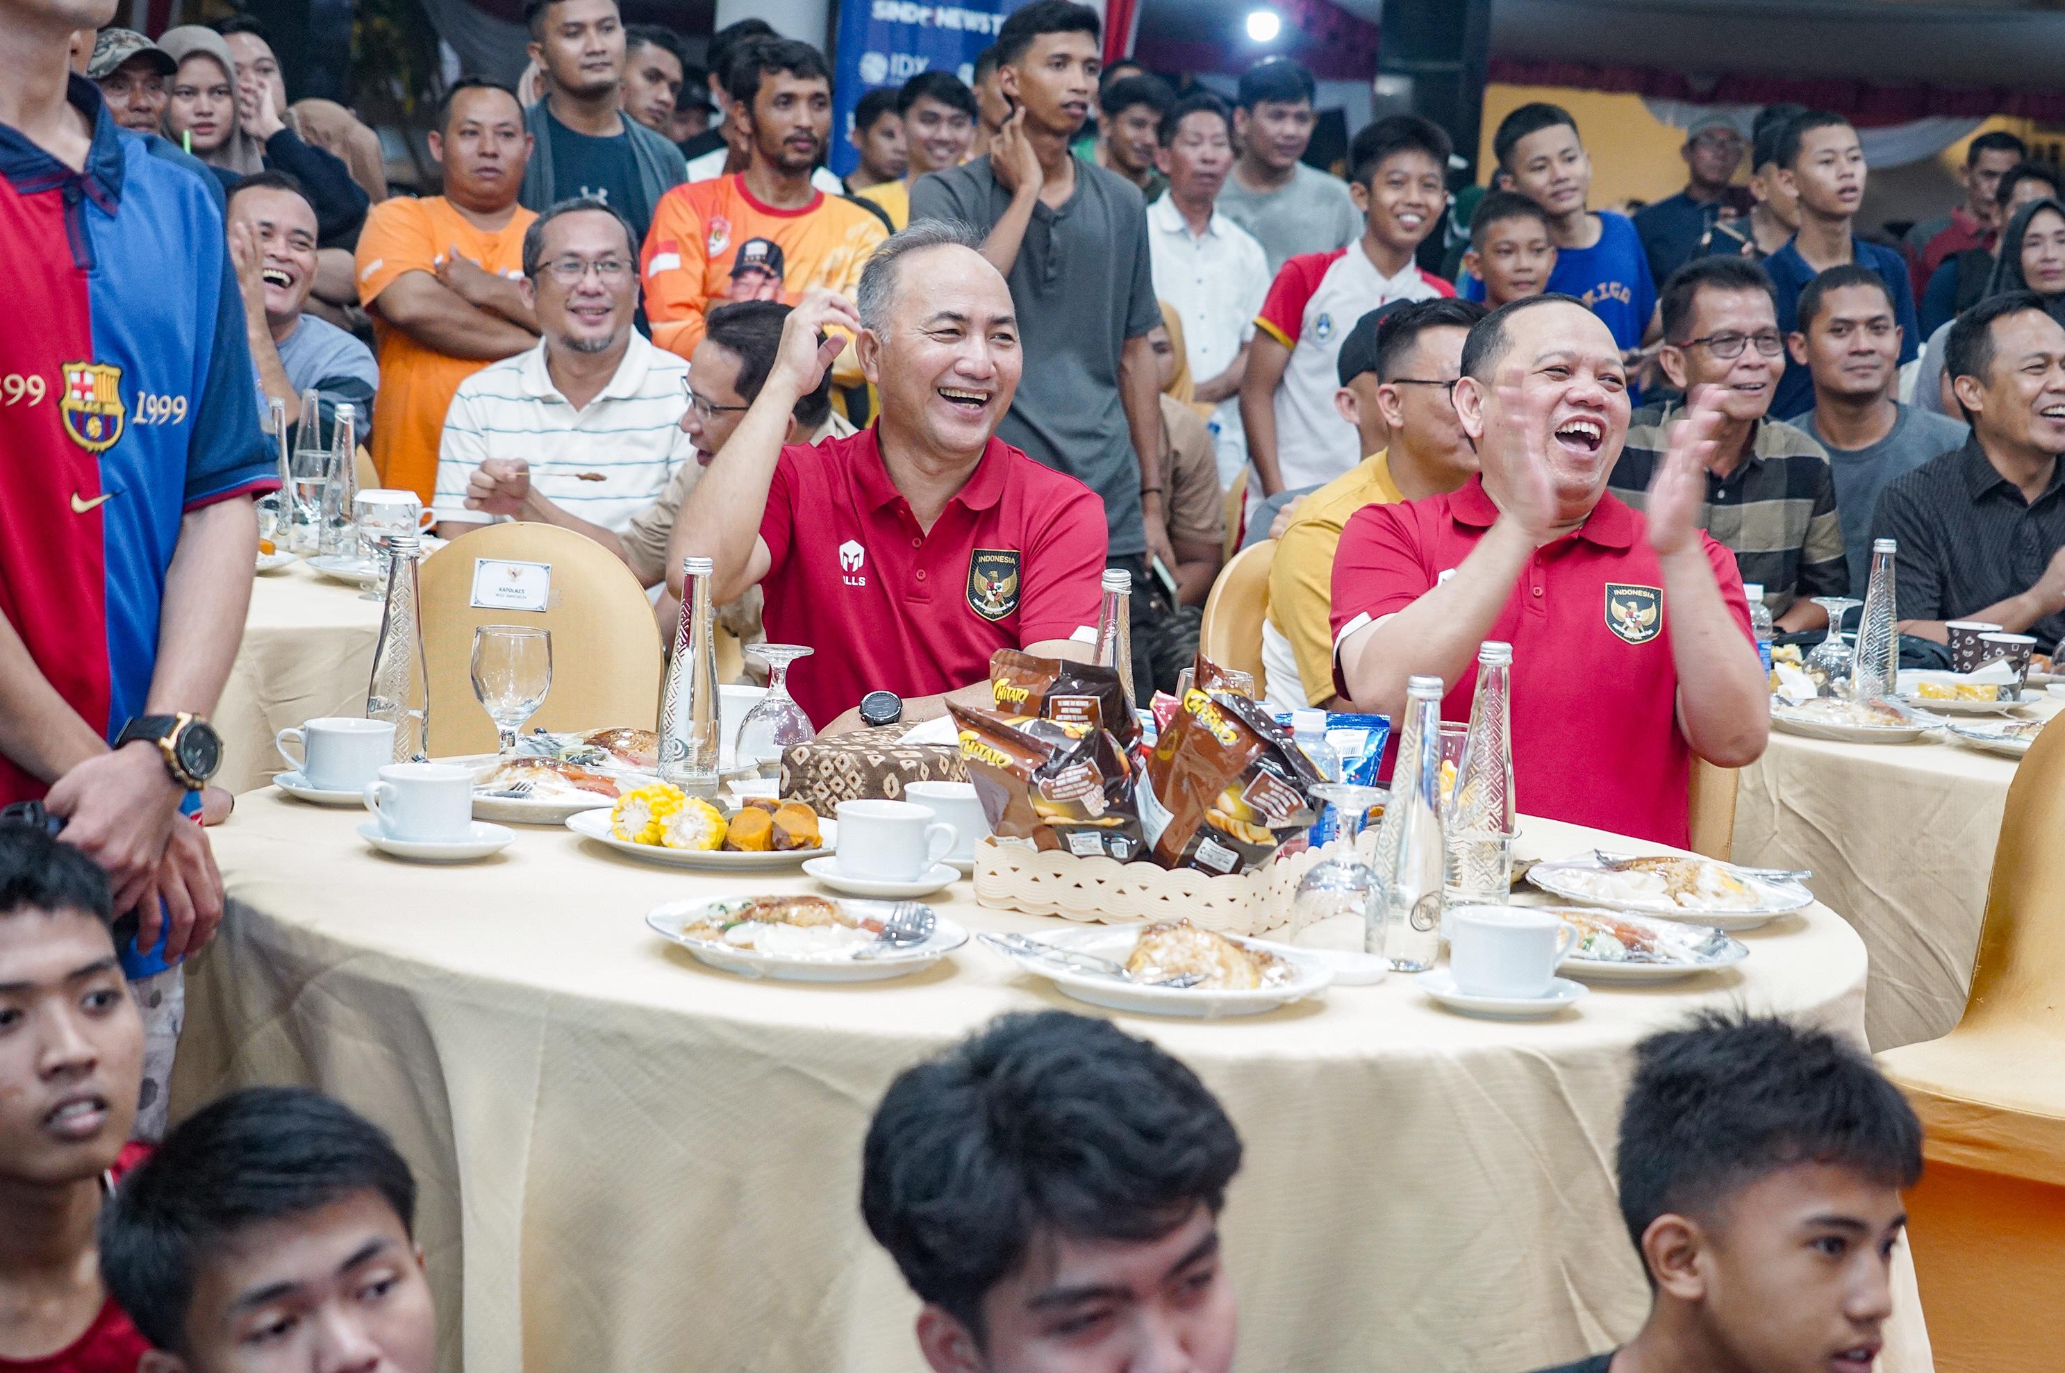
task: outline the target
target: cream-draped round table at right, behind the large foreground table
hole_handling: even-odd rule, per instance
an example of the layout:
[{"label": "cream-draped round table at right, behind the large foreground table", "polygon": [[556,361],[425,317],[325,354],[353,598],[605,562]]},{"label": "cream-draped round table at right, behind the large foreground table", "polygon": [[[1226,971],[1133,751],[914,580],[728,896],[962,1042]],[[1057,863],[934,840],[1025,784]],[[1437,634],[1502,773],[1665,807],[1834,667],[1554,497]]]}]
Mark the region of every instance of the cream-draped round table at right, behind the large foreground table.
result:
[{"label": "cream-draped round table at right, behind the large foreground table", "polygon": [[[2038,696],[2024,716],[2061,704]],[[1739,772],[1735,861],[1811,867],[1815,896],[1863,935],[1873,1051],[1939,1039],[1964,1014],[2015,766],[1939,733],[1834,743],[1772,729]]]}]

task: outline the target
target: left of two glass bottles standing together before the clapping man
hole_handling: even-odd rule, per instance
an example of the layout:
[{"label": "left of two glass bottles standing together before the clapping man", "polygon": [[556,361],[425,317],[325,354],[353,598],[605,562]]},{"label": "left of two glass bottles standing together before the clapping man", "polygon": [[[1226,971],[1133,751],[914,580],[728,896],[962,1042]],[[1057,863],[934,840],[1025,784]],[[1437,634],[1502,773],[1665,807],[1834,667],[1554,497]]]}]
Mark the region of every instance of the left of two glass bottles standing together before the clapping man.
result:
[{"label": "left of two glass bottles standing together before the clapping man", "polygon": [[1441,954],[1441,886],[1448,865],[1441,849],[1439,677],[1406,679],[1406,731],[1377,836],[1384,863],[1377,867],[1384,880],[1384,946],[1371,952],[1381,952],[1394,972],[1425,972]]}]

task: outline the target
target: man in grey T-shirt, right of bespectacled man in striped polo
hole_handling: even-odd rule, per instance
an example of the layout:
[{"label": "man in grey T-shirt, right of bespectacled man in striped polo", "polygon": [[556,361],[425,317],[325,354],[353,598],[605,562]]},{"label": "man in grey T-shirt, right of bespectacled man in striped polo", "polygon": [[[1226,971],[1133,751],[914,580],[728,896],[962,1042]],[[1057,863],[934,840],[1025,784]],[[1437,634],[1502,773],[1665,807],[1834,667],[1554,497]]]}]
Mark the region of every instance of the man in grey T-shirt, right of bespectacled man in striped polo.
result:
[{"label": "man in grey T-shirt, right of bespectacled man in striped polo", "polygon": [[1842,518],[1850,590],[1871,578],[1871,520],[1879,491],[1902,473],[1964,444],[1964,421],[1900,405],[1900,322],[1894,293],[1867,266],[1832,266],[1801,291],[1792,365],[1813,376],[1801,432],[1828,452]]}]

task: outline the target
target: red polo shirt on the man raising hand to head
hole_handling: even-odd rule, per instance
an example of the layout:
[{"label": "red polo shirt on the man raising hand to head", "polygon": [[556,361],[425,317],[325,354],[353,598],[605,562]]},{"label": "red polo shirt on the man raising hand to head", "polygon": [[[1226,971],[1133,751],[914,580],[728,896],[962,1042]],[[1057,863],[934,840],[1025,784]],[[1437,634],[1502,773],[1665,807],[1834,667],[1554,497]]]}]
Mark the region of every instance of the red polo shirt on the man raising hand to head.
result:
[{"label": "red polo shirt on the man raising hand to head", "polygon": [[931,696],[989,675],[989,654],[1097,630],[1105,506],[999,438],[923,531],[873,425],[791,444],[760,537],[770,644],[818,652],[789,694],[824,729],[867,692]]}]

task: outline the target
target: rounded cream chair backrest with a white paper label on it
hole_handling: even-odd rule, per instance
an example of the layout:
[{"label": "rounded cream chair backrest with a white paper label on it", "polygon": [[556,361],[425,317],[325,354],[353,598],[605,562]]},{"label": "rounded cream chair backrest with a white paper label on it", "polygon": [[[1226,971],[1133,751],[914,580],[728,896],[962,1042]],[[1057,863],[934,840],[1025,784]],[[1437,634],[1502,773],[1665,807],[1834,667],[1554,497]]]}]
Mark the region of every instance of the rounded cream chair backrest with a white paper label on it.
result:
[{"label": "rounded cream chair backrest with a white paper label on it", "polygon": [[[481,557],[549,564],[547,609],[473,605]],[[551,630],[551,692],[527,729],[653,729],[659,719],[653,603],[630,568],[593,539],[553,524],[483,524],[423,560],[421,588],[432,758],[496,747],[496,727],[473,698],[473,630],[483,624]]]}]

